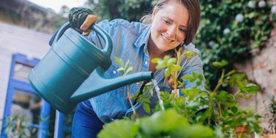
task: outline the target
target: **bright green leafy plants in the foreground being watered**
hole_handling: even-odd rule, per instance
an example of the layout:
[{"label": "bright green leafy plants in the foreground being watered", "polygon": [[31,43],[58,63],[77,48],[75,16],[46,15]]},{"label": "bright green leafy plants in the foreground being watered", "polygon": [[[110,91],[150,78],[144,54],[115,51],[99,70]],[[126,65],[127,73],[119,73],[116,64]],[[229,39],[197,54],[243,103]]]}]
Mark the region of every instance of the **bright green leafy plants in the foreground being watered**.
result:
[{"label": "bright green leafy plants in the foreground being watered", "polygon": [[[165,56],[163,59],[153,59],[153,63],[158,63],[156,69],[165,69],[165,76],[177,75],[181,70],[177,59],[182,56],[191,57],[194,52],[177,51],[177,58]],[[122,61],[115,59],[122,67],[118,70],[126,70]],[[157,92],[159,101],[153,110],[153,115],[137,118],[134,115],[132,120],[116,120],[113,123],[105,124],[104,129],[99,133],[99,137],[244,137],[251,135],[251,132],[261,133],[259,126],[259,116],[252,112],[239,109],[237,107],[237,97],[249,99],[249,94],[256,94],[260,87],[247,83],[245,73],[237,73],[235,70],[225,73],[227,61],[214,62],[213,66],[222,67],[222,75],[216,87],[211,90],[208,81],[205,88],[209,91],[202,91],[197,88],[201,85],[203,76],[197,73],[181,76],[182,80],[190,83],[196,82],[197,86],[187,89],[182,81],[177,81],[176,76],[174,87],[180,89],[184,96],[170,94],[169,92]],[[121,71],[123,72],[123,71]],[[174,73],[173,73],[174,72]],[[153,83],[154,84],[154,83]],[[222,85],[231,87],[237,86],[239,90],[234,94],[219,90]],[[152,86],[152,85],[150,85]],[[149,89],[148,87],[147,89]],[[147,91],[148,92],[148,91]],[[131,94],[129,94],[131,95]],[[137,93],[135,94],[137,96]],[[134,96],[130,96],[131,99]],[[142,92],[139,102],[148,103],[146,92]],[[136,97],[137,98],[137,97]],[[162,101],[162,102],[161,102]],[[147,107],[144,107],[147,111]],[[135,110],[133,109],[135,112]],[[237,126],[242,125],[242,130],[248,128],[246,133],[236,133]],[[117,128],[120,128],[118,130]],[[213,129],[211,129],[213,128]],[[203,131],[204,130],[204,131]],[[202,131],[202,133],[199,133]],[[203,133],[204,132],[204,133]]]}]

